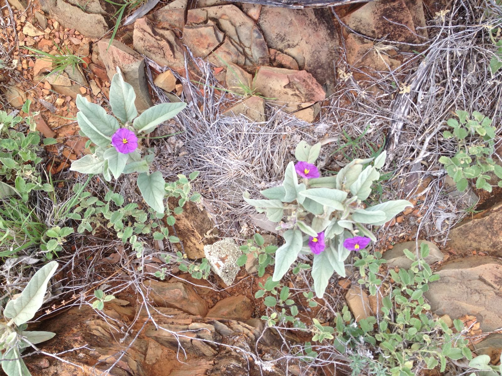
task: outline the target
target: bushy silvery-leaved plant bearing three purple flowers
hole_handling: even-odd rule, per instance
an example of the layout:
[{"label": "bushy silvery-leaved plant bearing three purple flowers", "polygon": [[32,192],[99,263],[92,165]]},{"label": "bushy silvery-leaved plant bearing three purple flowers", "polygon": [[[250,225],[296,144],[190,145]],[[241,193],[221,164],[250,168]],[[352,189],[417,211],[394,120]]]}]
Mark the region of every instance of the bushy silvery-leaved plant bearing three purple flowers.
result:
[{"label": "bushy silvery-leaved plant bearing three purple flowers", "polygon": [[[363,202],[380,178],[386,153],[368,159],[354,159],[336,175],[321,176],[315,162],[321,144],[301,141],[295,162],[286,167],[283,184],[265,191],[268,200],[244,200],[278,223],[285,231],[284,244],[276,252],[273,280],[280,281],[299,254],[312,255],[314,290],[322,297],[334,272],[345,276],[344,261],[350,252],[364,249],[376,237],[371,226],[381,226],[405,208],[406,200],[387,201],[370,207]],[[373,162],[370,164],[370,162]]]}]

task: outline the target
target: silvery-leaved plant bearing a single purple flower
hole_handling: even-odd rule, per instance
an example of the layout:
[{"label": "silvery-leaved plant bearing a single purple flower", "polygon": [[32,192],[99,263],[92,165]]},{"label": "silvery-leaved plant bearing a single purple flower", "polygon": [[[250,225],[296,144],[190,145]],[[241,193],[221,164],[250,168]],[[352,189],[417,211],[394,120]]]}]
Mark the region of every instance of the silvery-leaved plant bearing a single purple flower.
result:
[{"label": "silvery-leaved plant bearing a single purple flower", "polygon": [[81,95],[76,104],[81,135],[88,137],[86,147],[92,154],[74,161],[70,169],[89,174],[102,174],[106,181],[118,179],[122,173],[138,173],[138,187],[145,202],[156,212],[164,213],[167,184],[162,172],[150,173],[154,154],[142,139],[157,126],[186,107],[186,103],[157,104],[138,116],[133,87],[125,82],[120,70],[110,86],[110,105],[114,116]]}]

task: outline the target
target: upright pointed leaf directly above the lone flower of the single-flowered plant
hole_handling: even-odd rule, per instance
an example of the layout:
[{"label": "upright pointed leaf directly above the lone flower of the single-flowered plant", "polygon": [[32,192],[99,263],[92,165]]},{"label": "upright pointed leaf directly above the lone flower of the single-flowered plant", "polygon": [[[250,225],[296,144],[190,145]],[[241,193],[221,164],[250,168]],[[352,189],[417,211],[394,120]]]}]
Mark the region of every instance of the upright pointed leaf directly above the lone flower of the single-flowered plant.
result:
[{"label": "upright pointed leaf directly above the lone flower of the single-flowered plant", "polygon": [[111,111],[122,123],[131,122],[138,116],[135,100],[136,94],[133,87],[123,80],[120,69],[117,67],[117,73],[111,79],[110,105]]}]

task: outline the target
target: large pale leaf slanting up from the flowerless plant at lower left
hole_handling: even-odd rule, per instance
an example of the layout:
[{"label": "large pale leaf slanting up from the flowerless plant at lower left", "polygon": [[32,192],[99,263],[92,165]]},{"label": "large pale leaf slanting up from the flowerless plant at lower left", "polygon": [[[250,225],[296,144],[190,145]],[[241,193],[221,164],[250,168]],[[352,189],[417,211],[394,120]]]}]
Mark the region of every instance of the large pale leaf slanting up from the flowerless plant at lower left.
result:
[{"label": "large pale leaf slanting up from the flowerless plant at lower left", "polygon": [[31,320],[42,305],[47,282],[49,282],[57,267],[58,263],[51,261],[37,270],[21,295],[16,299],[9,300],[4,309],[5,317],[10,318],[16,325]]}]

